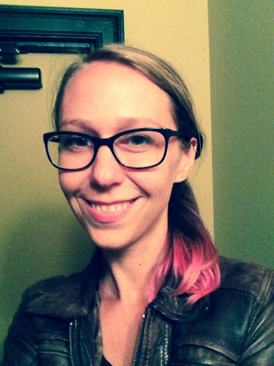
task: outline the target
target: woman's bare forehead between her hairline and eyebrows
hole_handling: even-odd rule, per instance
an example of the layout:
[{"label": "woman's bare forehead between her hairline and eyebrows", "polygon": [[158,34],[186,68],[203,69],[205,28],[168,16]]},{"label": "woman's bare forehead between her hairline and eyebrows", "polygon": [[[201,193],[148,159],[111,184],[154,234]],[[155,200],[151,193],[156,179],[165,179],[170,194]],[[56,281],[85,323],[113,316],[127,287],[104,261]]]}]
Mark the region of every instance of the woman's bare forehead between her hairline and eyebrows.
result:
[{"label": "woman's bare forehead between her hairline and eyebrows", "polygon": [[154,120],[161,127],[175,127],[169,96],[141,72],[109,61],[88,64],[66,85],[60,122],[75,119],[101,126],[122,120]]}]

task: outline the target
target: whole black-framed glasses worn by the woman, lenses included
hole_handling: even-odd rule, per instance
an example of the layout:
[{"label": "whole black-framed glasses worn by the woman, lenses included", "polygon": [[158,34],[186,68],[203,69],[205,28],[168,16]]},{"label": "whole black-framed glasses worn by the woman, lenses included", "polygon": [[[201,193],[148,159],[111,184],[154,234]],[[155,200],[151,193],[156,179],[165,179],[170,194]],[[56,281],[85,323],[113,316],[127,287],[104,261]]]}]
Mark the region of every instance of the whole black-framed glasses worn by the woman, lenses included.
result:
[{"label": "whole black-framed glasses worn by the woman, lenses included", "polygon": [[169,128],[135,128],[109,138],[72,131],[48,132],[43,140],[50,163],[58,169],[77,171],[89,167],[100,146],[108,146],[123,167],[148,169],[163,162],[171,136],[183,138]]}]

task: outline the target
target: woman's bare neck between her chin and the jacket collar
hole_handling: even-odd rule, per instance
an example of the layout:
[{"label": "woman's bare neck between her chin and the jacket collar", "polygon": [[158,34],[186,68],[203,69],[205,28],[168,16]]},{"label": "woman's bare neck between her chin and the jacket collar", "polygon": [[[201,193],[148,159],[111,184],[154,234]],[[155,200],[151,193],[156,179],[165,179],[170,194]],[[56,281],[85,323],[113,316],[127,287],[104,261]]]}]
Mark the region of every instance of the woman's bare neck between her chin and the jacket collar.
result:
[{"label": "woman's bare neck between her chin and the jacket collar", "polygon": [[163,261],[167,252],[167,233],[146,238],[138,246],[119,250],[102,249],[104,273],[100,280],[101,299],[119,301],[125,305],[148,301],[151,273]]}]

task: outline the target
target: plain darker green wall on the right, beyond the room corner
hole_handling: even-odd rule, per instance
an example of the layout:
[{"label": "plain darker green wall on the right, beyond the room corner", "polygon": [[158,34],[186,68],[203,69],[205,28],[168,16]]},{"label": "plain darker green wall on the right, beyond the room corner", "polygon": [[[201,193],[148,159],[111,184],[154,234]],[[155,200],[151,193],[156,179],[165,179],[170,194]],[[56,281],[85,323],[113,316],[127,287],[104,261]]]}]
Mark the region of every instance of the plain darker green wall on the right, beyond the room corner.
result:
[{"label": "plain darker green wall on the right, beyond the room corner", "polygon": [[274,267],[272,0],[209,0],[215,243]]}]

